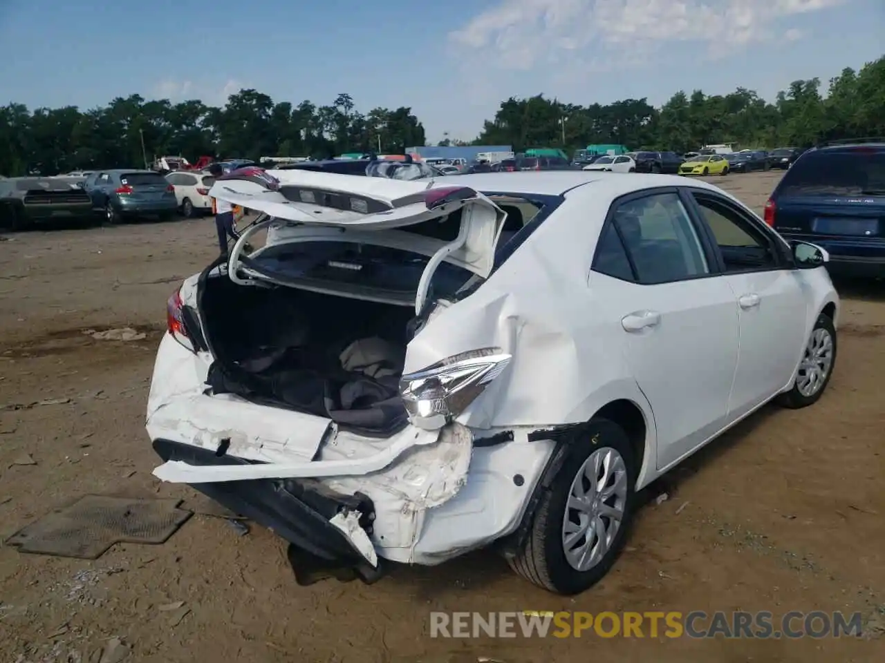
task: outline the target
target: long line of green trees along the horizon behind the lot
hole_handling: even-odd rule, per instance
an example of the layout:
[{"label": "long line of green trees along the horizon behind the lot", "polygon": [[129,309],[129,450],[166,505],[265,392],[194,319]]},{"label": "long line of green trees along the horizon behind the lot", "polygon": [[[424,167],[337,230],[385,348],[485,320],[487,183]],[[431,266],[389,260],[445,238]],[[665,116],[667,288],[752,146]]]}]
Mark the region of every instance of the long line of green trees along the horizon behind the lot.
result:
[{"label": "long line of green trees along the horizon behind the lot", "polygon": [[[660,108],[647,98],[581,106],[537,95],[511,97],[471,144],[517,151],[595,143],[677,152],[720,142],[742,147],[808,146],[840,138],[885,136],[885,56],[828,81],[796,80],[773,102],[747,88],[728,95],[674,94]],[[154,156],[325,157],[349,151],[402,153],[425,144],[424,126],[406,106],[363,114],[342,94],[329,105],[274,103],[254,89],[230,95],[223,108],[191,100],[118,97],[107,106],[29,111],[0,108],[0,174],[55,174],[140,166]],[[468,144],[445,139],[440,145]]]}]

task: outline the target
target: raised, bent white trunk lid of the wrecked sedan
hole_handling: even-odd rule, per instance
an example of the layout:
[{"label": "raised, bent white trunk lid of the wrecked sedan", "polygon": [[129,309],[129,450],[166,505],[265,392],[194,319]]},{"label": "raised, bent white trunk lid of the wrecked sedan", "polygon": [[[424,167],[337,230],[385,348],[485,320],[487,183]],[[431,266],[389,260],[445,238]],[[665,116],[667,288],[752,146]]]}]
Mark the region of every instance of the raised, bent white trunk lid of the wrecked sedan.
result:
[{"label": "raised, bent white trunk lid of the wrecked sedan", "polygon": [[[301,241],[297,226],[326,226],[352,232],[396,231],[443,219],[461,210],[455,241],[411,235],[415,250],[431,256],[428,271],[443,260],[486,278],[495,262],[495,245],[506,213],[470,187],[437,186],[434,180],[363,178],[337,173],[247,168],[219,178],[213,198],[256,210],[277,225],[268,242]],[[400,235],[400,239],[405,239]],[[235,272],[231,255],[230,272]]]}]

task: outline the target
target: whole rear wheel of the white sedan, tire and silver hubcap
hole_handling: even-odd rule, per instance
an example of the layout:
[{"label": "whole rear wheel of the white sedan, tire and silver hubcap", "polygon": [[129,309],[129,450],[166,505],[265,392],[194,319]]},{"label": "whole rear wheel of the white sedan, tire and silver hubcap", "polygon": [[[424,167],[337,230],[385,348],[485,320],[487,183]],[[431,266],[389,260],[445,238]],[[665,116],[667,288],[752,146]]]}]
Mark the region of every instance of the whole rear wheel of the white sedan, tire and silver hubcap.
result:
[{"label": "whole rear wheel of the white sedan, tire and silver hubcap", "polygon": [[575,440],[511,568],[529,582],[572,595],[599,582],[617,560],[635,507],[636,468],[627,433],[594,419]]}]

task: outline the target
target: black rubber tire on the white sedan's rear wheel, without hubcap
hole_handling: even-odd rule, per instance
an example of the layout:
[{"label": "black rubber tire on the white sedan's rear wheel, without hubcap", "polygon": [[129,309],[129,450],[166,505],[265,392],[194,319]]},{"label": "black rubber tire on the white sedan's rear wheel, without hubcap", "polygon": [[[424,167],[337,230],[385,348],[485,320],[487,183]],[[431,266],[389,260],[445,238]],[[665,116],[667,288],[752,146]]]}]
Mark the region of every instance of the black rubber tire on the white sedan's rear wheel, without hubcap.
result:
[{"label": "black rubber tire on the white sedan's rear wheel, without hubcap", "polygon": [[[566,559],[563,542],[566,505],[573,480],[581,471],[584,462],[589,460],[593,453],[605,449],[617,452],[626,469],[624,478],[627,489],[623,514],[620,527],[612,539],[612,545],[596,565],[580,571]],[[596,418],[590,421],[586,434],[570,443],[566,458],[550,487],[538,489],[542,490],[543,494],[535,510],[531,528],[522,548],[511,560],[508,560],[510,567],[530,583],[564,596],[581,593],[598,583],[618,559],[627,539],[635,508],[634,487],[637,475],[635,454],[627,433],[608,419]]]}]

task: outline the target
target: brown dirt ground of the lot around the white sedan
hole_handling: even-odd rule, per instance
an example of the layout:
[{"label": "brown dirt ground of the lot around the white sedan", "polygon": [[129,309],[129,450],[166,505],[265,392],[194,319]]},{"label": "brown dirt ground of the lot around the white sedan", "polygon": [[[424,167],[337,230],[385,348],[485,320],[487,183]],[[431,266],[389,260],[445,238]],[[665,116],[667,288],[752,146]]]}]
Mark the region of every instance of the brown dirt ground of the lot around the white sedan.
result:
[{"label": "brown dirt ground of the lot around the white sedan", "polygon": [[[715,183],[761,210],[777,177]],[[84,493],[194,499],[150,475],[158,461],[143,423],[165,300],[214,257],[212,220],[2,239],[0,537]],[[881,634],[885,285],[839,286],[839,356],[820,403],[766,408],[654,486],[627,551],[581,596],[536,589],[490,552],[396,568],[372,586],[301,588],[273,534],[238,536],[226,520],[195,515],[164,545],[116,545],[94,562],[0,548],[0,661],[97,661],[115,637],[127,660],[163,663],[882,660],[882,635],[602,644],[592,635],[429,636],[433,610],[526,609],[860,611],[867,631]],[[125,326],[146,338],[83,333]],[[35,464],[15,464],[24,454]],[[658,504],[661,492],[669,499]],[[183,618],[158,609],[179,601]]]}]

